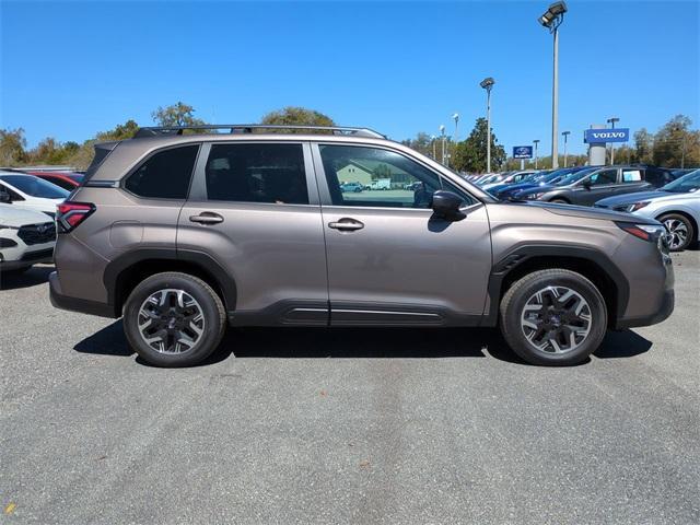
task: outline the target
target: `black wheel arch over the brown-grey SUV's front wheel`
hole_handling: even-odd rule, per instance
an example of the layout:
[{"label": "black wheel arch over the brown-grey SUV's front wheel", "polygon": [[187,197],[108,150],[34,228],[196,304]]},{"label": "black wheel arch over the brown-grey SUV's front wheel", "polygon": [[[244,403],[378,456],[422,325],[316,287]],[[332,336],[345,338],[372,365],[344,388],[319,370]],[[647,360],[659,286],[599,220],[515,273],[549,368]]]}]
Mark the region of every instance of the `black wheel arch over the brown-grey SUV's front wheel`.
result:
[{"label": "black wheel arch over the brown-grey SUV's front wheel", "polygon": [[499,305],[508,289],[533,271],[562,268],[581,273],[598,289],[608,311],[608,326],[625,315],[629,282],[621,270],[602,252],[583,246],[525,245],[493,265],[489,276],[489,308],[483,325],[495,326]]}]

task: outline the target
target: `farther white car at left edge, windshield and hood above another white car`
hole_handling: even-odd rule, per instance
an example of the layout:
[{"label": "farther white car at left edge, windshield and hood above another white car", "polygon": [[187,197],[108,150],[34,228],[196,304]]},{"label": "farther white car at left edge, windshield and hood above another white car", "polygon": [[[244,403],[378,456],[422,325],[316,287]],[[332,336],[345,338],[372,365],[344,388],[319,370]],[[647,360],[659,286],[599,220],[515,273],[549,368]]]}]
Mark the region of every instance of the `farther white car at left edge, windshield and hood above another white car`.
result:
[{"label": "farther white car at left edge, windshield and hood above another white car", "polygon": [[23,210],[42,211],[54,218],[70,191],[34,175],[0,172],[0,202]]}]

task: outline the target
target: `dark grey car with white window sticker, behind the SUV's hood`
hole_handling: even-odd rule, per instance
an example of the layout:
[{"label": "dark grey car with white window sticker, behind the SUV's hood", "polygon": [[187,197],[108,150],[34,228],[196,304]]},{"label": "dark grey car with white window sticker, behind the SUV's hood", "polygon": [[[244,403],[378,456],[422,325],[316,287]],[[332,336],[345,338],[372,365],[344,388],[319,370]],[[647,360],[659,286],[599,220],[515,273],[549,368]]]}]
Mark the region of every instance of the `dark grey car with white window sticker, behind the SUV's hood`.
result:
[{"label": "dark grey car with white window sticker, behind the SUV's hood", "polygon": [[651,166],[603,166],[572,173],[556,186],[539,186],[520,191],[514,198],[593,206],[606,197],[658,188],[674,178],[670,170]]}]

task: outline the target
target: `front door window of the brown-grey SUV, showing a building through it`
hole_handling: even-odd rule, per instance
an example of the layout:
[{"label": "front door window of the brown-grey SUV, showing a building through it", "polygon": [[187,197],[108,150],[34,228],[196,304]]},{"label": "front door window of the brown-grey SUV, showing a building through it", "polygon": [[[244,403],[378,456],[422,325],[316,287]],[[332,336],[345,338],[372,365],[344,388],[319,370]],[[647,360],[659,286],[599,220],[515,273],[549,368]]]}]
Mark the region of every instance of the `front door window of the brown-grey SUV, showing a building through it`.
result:
[{"label": "front door window of the brown-grey SUV, showing a building through it", "polygon": [[415,161],[393,151],[355,145],[319,145],[335,206],[430,208],[432,195],[462,191]]}]

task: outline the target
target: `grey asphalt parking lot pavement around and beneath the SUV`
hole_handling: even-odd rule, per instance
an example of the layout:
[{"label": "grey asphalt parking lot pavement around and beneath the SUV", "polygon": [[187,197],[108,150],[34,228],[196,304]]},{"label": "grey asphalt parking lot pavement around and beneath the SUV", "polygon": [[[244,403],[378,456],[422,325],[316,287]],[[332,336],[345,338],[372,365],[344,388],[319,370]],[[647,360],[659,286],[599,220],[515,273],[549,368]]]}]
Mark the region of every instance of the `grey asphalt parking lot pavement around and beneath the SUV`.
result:
[{"label": "grey asphalt parking lot pavement around and beneath the SUV", "polygon": [[[162,370],[3,279],[3,523],[699,523],[700,252],[583,365],[486,329],[232,330]],[[235,357],[234,357],[235,354]]]}]

